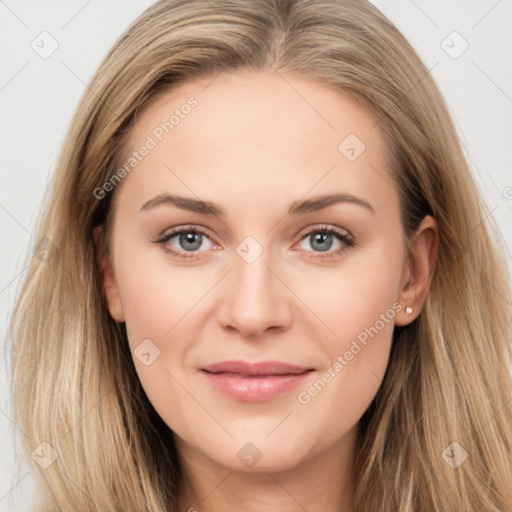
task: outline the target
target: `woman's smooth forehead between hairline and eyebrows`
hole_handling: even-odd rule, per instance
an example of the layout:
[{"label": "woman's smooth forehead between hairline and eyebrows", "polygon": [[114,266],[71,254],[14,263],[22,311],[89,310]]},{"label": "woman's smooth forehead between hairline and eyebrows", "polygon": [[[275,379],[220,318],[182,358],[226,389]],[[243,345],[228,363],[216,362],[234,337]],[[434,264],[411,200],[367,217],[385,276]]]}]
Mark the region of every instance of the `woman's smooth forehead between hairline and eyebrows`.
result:
[{"label": "woman's smooth forehead between hairline and eyebrows", "polygon": [[139,195],[169,186],[218,198],[289,192],[289,203],[343,189],[379,201],[393,188],[372,115],[297,74],[244,70],[181,83],[139,113],[123,159],[148,141],[127,180]]}]

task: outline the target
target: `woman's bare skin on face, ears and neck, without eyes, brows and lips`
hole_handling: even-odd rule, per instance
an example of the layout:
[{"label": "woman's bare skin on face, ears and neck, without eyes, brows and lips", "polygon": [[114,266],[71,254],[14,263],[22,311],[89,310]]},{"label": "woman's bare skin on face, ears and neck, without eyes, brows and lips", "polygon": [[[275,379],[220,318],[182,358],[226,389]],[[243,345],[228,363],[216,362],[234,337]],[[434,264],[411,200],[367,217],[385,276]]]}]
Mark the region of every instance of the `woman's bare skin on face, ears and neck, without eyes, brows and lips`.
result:
[{"label": "woman's bare skin on face, ears and neck, without eyes, brows and lips", "polygon": [[[394,325],[420,313],[437,251],[435,221],[426,217],[404,245],[375,120],[348,96],[297,75],[244,70],[181,84],[142,111],[125,156],[190,96],[197,107],[115,191],[110,258],[101,228],[95,232],[112,318],[126,322],[132,352],[145,339],[160,350],[150,365],[135,356],[134,364],[174,432],[184,469],[179,510],[349,512],[358,422],[381,385]],[[348,134],[366,146],[354,161],[338,149]],[[374,212],[345,202],[286,213],[294,201],[333,192],[357,196]],[[172,204],[141,211],[164,193],[212,201],[225,215]],[[189,224],[208,232],[195,258],[179,259],[155,242]],[[355,245],[333,236],[326,252],[335,257],[322,258],[313,238],[322,226],[349,233]],[[236,252],[247,236],[263,250],[251,263]],[[167,246],[191,254],[179,236]],[[396,316],[300,403],[298,393],[393,305]],[[231,359],[315,371],[274,399],[241,402],[199,371]],[[237,456],[248,442],[261,453],[251,468]]]}]

